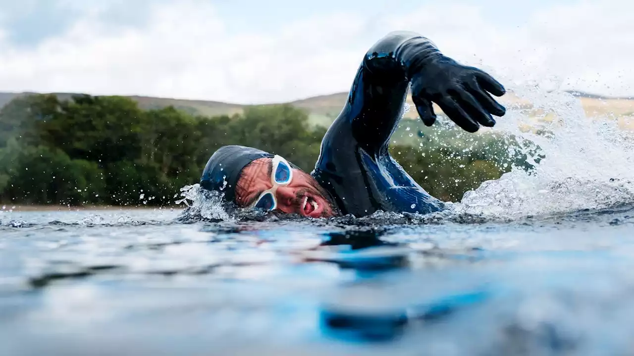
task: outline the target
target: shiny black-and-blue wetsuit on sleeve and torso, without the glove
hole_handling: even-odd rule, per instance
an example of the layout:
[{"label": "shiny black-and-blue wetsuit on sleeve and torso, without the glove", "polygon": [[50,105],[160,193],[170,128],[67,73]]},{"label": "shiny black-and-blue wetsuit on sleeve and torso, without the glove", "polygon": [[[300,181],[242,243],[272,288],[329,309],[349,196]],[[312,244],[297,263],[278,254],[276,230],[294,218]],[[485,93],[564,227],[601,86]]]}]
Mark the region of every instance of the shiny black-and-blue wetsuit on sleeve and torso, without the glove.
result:
[{"label": "shiny black-and-blue wetsuit on sleeve and torso, without the glove", "polygon": [[387,149],[403,115],[410,67],[437,52],[428,39],[399,32],[378,41],[363,58],[346,106],[323,137],[311,173],[343,214],[443,209]]}]

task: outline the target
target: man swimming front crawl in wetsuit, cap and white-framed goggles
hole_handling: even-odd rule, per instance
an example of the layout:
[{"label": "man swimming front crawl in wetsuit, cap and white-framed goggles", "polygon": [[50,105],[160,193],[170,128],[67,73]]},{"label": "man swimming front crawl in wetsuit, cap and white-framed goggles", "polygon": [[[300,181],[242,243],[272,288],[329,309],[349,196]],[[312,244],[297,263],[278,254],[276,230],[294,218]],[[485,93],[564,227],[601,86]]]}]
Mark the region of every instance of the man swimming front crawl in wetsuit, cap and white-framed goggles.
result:
[{"label": "man swimming front crawl in wetsuit, cap and white-framed goggles", "polygon": [[311,174],[256,148],[223,146],[209,158],[200,186],[224,193],[238,207],[306,217],[443,210],[443,202],[388,152],[410,86],[427,126],[436,121],[432,102],[468,132],[480,125],[492,127],[492,115],[505,114],[490,95],[505,94],[493,77],[444,56],[425,37],[391,32],[363,58],[346,105],[321,141]]}]

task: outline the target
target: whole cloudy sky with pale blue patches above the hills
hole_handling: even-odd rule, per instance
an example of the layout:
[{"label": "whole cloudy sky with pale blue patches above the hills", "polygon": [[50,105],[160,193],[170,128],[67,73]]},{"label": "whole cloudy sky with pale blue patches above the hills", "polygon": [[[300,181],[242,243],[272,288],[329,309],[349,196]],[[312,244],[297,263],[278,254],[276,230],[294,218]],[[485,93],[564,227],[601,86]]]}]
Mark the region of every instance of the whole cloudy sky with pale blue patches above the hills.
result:
[{"label": "whole cloudy sky with pale blue patches above the hills", "polygon": [[394,30],[512,89],[634,96],[628,0],[0,0],[0,91],[276,103],[348,91]]}]

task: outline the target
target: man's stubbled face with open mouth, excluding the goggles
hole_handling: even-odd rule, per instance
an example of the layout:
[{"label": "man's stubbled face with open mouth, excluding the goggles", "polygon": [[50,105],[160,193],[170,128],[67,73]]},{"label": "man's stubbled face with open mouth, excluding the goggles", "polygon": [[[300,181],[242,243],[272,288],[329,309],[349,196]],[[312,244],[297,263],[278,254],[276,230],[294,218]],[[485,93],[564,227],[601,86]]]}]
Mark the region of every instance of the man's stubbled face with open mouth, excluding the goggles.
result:
[{"label": "man's stubbled face with open mouth, excluding the goggles", "polygon": [[[263,191],[273,188],[271,184],[272,158],[259,158],[244,167],[236,184],[236,203],[249,207]],[[275,191],[276,210],[298,213],[307,217],[332,217],[333,204],[319,183],[306,172],[293,168],[293,179]]]}]

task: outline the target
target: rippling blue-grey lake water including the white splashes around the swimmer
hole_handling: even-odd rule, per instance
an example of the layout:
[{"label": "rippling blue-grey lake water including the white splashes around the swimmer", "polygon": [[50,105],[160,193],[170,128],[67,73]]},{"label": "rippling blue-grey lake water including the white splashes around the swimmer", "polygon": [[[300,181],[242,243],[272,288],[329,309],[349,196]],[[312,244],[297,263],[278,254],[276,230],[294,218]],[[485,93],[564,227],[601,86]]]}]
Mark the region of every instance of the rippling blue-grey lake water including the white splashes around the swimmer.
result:
[{"label": "rippling blue-grey lake water including the white splashes around the swimmer", "polygon": [[546,158],[433,215],[5,207],[0,355],[633,353],[631,136],[521,94],[566,118],[500,120]]}]

